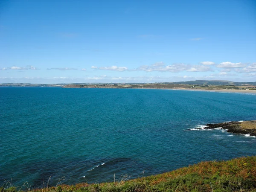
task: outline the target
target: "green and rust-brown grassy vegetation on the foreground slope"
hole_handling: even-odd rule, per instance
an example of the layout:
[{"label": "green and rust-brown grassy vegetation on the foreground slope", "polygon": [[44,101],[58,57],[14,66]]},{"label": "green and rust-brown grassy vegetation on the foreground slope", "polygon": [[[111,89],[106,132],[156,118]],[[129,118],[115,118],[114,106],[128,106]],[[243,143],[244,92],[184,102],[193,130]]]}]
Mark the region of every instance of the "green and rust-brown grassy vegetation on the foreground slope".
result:
[{"label": "green and rust-brown grassy vegetation on the foreground slope", "polygon": [[0,192],[256,192],[256,156],[201,162],[172,172],[112,183],[57,185],[44,189],[1,187]]}]

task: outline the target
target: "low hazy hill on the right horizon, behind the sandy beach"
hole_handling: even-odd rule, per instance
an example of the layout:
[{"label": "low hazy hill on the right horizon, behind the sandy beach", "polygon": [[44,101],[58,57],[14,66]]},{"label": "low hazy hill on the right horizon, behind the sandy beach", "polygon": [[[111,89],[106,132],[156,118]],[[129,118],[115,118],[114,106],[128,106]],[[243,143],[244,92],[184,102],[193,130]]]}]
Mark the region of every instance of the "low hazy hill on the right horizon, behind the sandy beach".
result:
[{"label": "low hazy hill on the right horizon, behind the sandy beach", "polygon": [[234,81],[222,81],[222,80],[195,80],[195,81],[179,81],[173,82],[174,84],[207,84],[207,85],[256,85],[256,82],[234,82]]}]

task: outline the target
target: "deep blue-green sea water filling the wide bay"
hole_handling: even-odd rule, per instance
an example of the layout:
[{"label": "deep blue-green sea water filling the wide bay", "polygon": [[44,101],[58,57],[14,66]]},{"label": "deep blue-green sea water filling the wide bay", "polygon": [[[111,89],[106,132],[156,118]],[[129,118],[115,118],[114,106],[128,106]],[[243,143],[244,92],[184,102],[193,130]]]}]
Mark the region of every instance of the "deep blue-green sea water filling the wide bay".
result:
[{"label": "deep blue-green sea water filling the wide bay", "polygon": [[186,131],[252,119],[250,94],[0,87],[0,185],[113,181],[256,155],[255,137]]}]

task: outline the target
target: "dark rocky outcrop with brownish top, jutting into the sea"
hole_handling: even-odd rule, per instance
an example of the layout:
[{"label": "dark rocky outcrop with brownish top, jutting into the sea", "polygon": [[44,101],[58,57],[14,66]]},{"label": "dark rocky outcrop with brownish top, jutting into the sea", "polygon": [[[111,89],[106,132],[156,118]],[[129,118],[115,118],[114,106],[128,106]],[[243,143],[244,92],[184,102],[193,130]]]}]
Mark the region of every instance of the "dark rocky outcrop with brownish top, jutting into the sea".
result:
[{"label": "dark rocky outcrop with brownish top, jutting into the sea", "polygon": [[244,122],[222,122],[216,124],[207,124],[205,129],[221,128],[227,129],[227,132],[236,134],[250,134],[250,136],[256,137],[256,121],[244,121]]}]

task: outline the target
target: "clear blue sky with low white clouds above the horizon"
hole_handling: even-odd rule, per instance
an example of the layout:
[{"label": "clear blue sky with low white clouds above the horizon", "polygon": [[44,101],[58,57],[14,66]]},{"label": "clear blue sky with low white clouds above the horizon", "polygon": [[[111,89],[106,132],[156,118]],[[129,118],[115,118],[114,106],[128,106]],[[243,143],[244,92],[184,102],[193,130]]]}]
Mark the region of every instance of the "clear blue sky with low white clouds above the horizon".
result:
[{"label": "clear blue sky with low white clouds above the horizon", "polygon": [[256,81],[256,0],[0,0],[0,83]]}]

